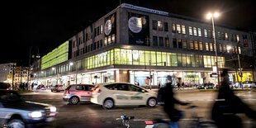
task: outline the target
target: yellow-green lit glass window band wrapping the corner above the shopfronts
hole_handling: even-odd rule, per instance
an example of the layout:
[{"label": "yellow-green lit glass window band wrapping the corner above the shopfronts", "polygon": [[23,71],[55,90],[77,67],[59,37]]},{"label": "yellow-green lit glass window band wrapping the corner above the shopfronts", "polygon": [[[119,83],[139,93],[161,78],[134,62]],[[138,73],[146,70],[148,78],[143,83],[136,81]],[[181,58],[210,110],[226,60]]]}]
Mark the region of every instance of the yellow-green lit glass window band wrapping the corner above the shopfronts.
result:
[{"label": "yellow-green lit glass window band wrapping the corner above the shopfronts", "polygon": [[[216,56],[188,55],[149,50],[113,49],[85,59],[85,69],[107,66],[110,64],[152,65],[172,67],[211,68],[216,65]],[[225,67],[225,58],[218,57],[219,68]]]}]

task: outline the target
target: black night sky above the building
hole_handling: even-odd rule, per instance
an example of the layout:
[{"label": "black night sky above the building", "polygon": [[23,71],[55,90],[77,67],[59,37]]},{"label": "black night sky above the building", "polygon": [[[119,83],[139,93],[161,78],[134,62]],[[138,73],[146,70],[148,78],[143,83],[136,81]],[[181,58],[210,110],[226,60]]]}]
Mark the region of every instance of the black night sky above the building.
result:
[{"label": "black night sky above the building", "polygon": [[[119,5],[119,0],[5,2],[1,8],[2,41],[0,64],[17,62],[27,65],[30,47],[40,56],[54,50],[78,31],[97,21]],[[219,11],[216,23],[256,31],[255,0],[122,0],[204,19],[207,12]]]}]

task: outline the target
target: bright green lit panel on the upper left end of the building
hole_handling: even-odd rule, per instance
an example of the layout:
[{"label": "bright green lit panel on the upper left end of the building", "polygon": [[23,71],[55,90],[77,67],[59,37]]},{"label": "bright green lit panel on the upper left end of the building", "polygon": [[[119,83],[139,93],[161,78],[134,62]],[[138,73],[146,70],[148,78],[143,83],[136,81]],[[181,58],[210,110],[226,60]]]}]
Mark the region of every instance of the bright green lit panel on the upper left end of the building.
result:
[{"label": "bright green lit panel on the upper left end of the building", "polygon": [[69,57],[69,41],[64,42],[59,45],[58,48],[52,50],[47,55],[43,56],[41,59],[41,69],[46,69],[56,64],[67,61]]}]

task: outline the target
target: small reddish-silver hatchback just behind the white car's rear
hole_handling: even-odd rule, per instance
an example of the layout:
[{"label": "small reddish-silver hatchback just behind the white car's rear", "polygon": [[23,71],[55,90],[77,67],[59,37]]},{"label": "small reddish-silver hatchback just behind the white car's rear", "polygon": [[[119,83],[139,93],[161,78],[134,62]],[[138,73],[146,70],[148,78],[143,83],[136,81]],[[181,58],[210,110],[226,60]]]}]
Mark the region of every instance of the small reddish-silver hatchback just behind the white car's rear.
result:
[{"label": "small reddish-silver hatchback just behind the white car's rear", "polygon": [[63,100],[72,105],[78,102],[90,102],[92,97],[92,84],[73,84],[65,89]]}]

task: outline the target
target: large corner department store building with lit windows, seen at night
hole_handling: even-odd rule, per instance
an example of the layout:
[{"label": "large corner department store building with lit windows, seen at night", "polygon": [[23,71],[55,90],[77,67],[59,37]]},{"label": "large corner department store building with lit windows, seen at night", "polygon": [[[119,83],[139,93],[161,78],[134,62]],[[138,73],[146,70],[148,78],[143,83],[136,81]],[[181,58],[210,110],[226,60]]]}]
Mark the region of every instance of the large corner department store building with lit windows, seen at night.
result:
[{"label": "large corner department store building with lit windows, seen at night", "polygon": [[[35,82],[45,84],[128,82],[217,83],[212,66],[229,68],[230,81],[252,81],[251,35],[211,21],[123,3],[41,58]],[[239,56],[243,77],[238,77]],[[236,68],[235,68],[236,67]],[[152,78],[152,83],[148,78]]]}]

